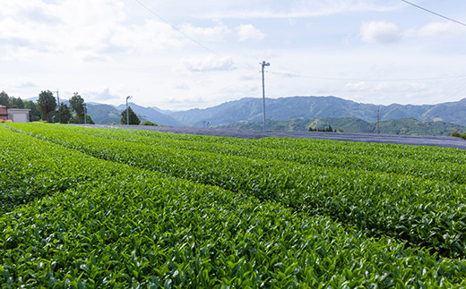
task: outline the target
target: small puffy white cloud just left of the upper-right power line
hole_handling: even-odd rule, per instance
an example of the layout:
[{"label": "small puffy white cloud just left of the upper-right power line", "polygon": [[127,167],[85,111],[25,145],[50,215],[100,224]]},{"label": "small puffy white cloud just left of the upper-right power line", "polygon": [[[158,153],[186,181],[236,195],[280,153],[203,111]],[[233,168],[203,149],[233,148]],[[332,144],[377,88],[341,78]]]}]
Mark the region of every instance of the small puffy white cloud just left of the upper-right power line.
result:
[{"label": "small puffy white cloud just left of the upper-right power line", "polygon": [[360,34],[367,43],[394,43],[401,39],[398,27],[392,22],[372,21],[363,23]]}]

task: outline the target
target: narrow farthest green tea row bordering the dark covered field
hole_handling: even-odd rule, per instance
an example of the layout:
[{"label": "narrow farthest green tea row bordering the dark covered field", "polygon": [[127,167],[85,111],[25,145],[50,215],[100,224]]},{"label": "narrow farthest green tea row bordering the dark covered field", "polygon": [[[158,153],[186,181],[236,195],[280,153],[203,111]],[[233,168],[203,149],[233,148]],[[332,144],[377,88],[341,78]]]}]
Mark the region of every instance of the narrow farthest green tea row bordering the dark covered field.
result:
[{"label": "narrow farthest green tea row bordering the dark covered field", "polygon": [[[277,159],[311,166],[362,169],[375,172],[419,176],[425,179],[440,180],[445,182],[462,184],[466,183],[466,174],[464,174],[466,172],[466,165],[456,163],[460,162],[462,159],[458,156],[455,157],[455,162],[445,162],[432,161],[431,159],[427,158],[422,160],[410,159],[400,157],[396,154],[396,157],[389,157],[386,156],[386,154],[383,154],[384,157],[379,157],[365,156],[361,154],[329,152],[326,151],[324,143],[321,143],[320,147],[315,146],[313,151],[303,151],[300,149],[269,149],[268,146],[264,146],[263,148],[258,149],[257,146],[241,146],[237,144],[215,143],[211,141],[203,142],[202,140],[173,140],[163,136],[160,137],[160,134],[153,133],[152,136],[150,136],[151,133],[144,133],[145,135],[140,135],[138,131],[134,130],[129,130],[130,132],[127,132],[128,130],[91,129],[77,126],[66,127],[62,129],[65,129],[68,132],[79,132],[110,140],[132,141],[145,145],[160,146],[165,148],[189,149],[240,157]],[[263,142],[266,141],[263,140]],[[351,145],[353,147],[361,148],[366,146],[366,144],[356,145],[354,143]],[[466,157],[464,159],[466,159]]]}]

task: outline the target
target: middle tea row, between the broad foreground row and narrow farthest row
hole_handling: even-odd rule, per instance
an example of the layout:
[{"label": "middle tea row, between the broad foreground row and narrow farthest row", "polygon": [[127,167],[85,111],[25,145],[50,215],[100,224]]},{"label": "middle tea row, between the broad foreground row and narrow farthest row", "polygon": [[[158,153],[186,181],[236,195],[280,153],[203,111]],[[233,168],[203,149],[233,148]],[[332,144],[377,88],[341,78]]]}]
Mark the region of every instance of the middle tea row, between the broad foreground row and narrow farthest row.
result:
[{"label": "middle tea row, between the broad foreground row and narrow farthest row", "polygon": [[[93,157],[243,192],[308,216],[329,216],[356,226],[367,236],[396,237],[410,246],[427,247],[450,258],[464,258],[466,254],[466,187],[431,180],[436,168],[425,167],[422,172],[429,175],[425,179],[354,166],[345,169],[303,165],[108,140],[79,133],[82,129],[76,127],[60,130],[50,130],[44,125],[14,124],[14,127]],[[440,164],[445,170],[449,165]]]}]

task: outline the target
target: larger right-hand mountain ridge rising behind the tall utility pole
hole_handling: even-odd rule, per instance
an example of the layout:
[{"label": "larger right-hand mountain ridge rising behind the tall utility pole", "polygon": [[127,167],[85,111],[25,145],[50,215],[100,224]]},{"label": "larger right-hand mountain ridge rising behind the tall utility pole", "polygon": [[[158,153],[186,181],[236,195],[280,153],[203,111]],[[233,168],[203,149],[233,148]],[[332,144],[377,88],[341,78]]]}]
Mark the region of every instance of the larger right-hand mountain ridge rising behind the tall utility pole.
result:
[{"label": "larger right-hand mountain ridge rising behind the tall utility pole", "polygon": [[[381,120],[415,118],[419,121],[443,121],[466,126],[466,98],[438,105],[376,106],[335,97],[266,98],[267,119],[315,119],[325,117],[355,117],[367,122],[376,120],[380,110]],[[242,98],[205,109],[190,109],[169,113],[187,126],[203,126],[203,121],[220,126],[233,122],[261,122],[262,98]]]}]

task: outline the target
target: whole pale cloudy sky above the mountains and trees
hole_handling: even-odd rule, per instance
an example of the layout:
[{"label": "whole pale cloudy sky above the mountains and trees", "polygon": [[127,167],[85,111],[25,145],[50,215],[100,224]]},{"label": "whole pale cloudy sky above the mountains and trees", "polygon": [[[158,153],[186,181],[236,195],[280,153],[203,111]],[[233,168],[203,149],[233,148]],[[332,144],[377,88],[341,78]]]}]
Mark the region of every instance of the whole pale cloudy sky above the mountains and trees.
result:
[{"label": "whole pale cloudy sky above the mountains and trees", "polygon": [[[466,22],[464,0],[411,0]],[[401,0],[0,0],[0,91],[185,110],[466,98],[466,27]]]}]

